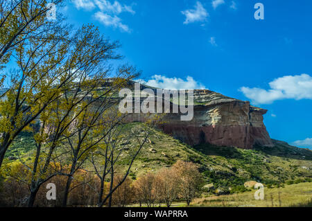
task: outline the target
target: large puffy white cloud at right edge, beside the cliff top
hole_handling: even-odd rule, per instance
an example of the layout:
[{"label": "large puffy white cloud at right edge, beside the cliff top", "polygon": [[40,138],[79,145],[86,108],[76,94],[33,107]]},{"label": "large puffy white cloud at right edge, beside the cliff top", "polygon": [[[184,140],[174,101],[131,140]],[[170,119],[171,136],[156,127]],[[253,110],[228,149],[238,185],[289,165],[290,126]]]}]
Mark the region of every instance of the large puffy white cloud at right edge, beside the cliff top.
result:
[{"label": "large puffy white cloud at right edge, beside the cliff top", "polygon": [[284,76],[269,83],[270,89],[241,87],[239,91],[255,104],[270,104],[283,99],[312,99],[312,77],[306,73]]}]

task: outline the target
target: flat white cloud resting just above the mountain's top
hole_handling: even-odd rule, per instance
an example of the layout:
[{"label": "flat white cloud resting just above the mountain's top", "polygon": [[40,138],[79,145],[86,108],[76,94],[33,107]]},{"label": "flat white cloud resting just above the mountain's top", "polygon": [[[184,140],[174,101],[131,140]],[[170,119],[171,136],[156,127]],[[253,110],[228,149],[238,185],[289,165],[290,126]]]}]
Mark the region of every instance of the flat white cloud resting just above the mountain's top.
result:
[{"label": "flat white cloud resting just above the mountain's top", "polygon": [[205,89],[205,86],[194,80],[191,76],[187,76],[186,80],[182,78],[167,78],[166,76],[155,75],[148,81],[139,80],[141,84],[150,87],[162,89]]}]

